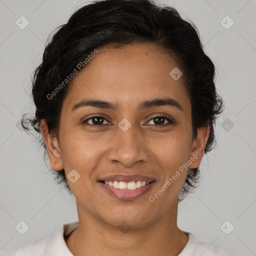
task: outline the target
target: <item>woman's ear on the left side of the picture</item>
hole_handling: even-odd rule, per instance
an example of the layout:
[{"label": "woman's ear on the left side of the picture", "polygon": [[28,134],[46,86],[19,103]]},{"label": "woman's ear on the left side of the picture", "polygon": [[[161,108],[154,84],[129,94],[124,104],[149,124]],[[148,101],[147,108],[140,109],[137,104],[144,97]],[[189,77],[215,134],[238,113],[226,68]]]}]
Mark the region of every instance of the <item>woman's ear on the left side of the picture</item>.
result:
[{"label": "woman's ear on the left side of the picture", "polygon": [[63,169],[61,152],[56,136],[49,133],[47,123],[45,120],[40,122],[40,130],[42,133],[43,140],[46,144],[50,167],[54,170]]}]

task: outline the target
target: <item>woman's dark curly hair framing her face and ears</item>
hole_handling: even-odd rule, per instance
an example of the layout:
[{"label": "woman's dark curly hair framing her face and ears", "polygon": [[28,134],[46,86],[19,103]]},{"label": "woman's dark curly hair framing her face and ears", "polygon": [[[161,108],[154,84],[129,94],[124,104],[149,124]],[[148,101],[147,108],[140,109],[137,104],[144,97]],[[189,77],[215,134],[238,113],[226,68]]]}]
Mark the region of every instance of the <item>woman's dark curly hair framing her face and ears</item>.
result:
[{"label": "woman's dark curly hair framing her face and ears", "polygon": [[[34,129],[39,135],[44,157],[47,150],[40,134],[40,122],[46,120],[49,132],[58,137],[61,105],[69,82],[50,100],[47,95],[93,49],[109,44],[117,47],[145,42],[160,46],[181,65],[191,103],[193,137],[197,128],[209,125],[204,152],[213,148],[215,119],[223,111],[223,101],[215,88],[214,64],[204,53],[193,22],[182,19],[174,7],[162,6],[153,0],[95,0],[77,9],[67,23],[52,31],[42,62],[32,75],[35,113],[32,117],[23,114],[21,124],[26,132]],[[71,193],[64,169],[49,169],[55,175],[54,180],[64,184]],[[198,167],[188,169],[179,201],[190,188],[196,187],[198,177]]]}]

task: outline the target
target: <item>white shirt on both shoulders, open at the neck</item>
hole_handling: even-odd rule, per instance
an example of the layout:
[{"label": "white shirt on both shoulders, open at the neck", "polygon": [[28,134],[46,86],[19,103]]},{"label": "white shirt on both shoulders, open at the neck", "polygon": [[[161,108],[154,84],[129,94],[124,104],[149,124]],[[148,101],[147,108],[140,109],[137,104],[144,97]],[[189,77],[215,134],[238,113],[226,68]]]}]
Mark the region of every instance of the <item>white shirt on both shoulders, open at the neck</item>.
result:
[{"label": "white shirt on both shoulders, open at the neck", "polygon": [[[70,234],[78,224],[78,221],[62,224],[52,235],[39,240],[39,244],[33,242],[23,245],[7,252],[4,256],[73,256],[66,246],[63,235]],[[235,256],[215,245],[198,242],[191,233],[186,233],[189,236],[188,242],[178,256]]]}]

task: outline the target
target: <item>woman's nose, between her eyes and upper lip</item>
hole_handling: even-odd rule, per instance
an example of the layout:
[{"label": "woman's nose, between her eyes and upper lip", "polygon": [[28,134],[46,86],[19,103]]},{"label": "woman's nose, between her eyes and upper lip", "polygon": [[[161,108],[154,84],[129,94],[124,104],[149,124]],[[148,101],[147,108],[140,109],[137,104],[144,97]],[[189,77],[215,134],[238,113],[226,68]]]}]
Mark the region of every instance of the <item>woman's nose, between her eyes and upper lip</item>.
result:
[{"label": "woman's nose, between her eyes and upper lip", "polygon": [[107,151],[107,158],[113,163],[121,163],[124,167],[131,167],[141,161],[146,162],[149,158],[149,150],[142,136],[131,125],[126,131],[117,128],[112,143]]}]

